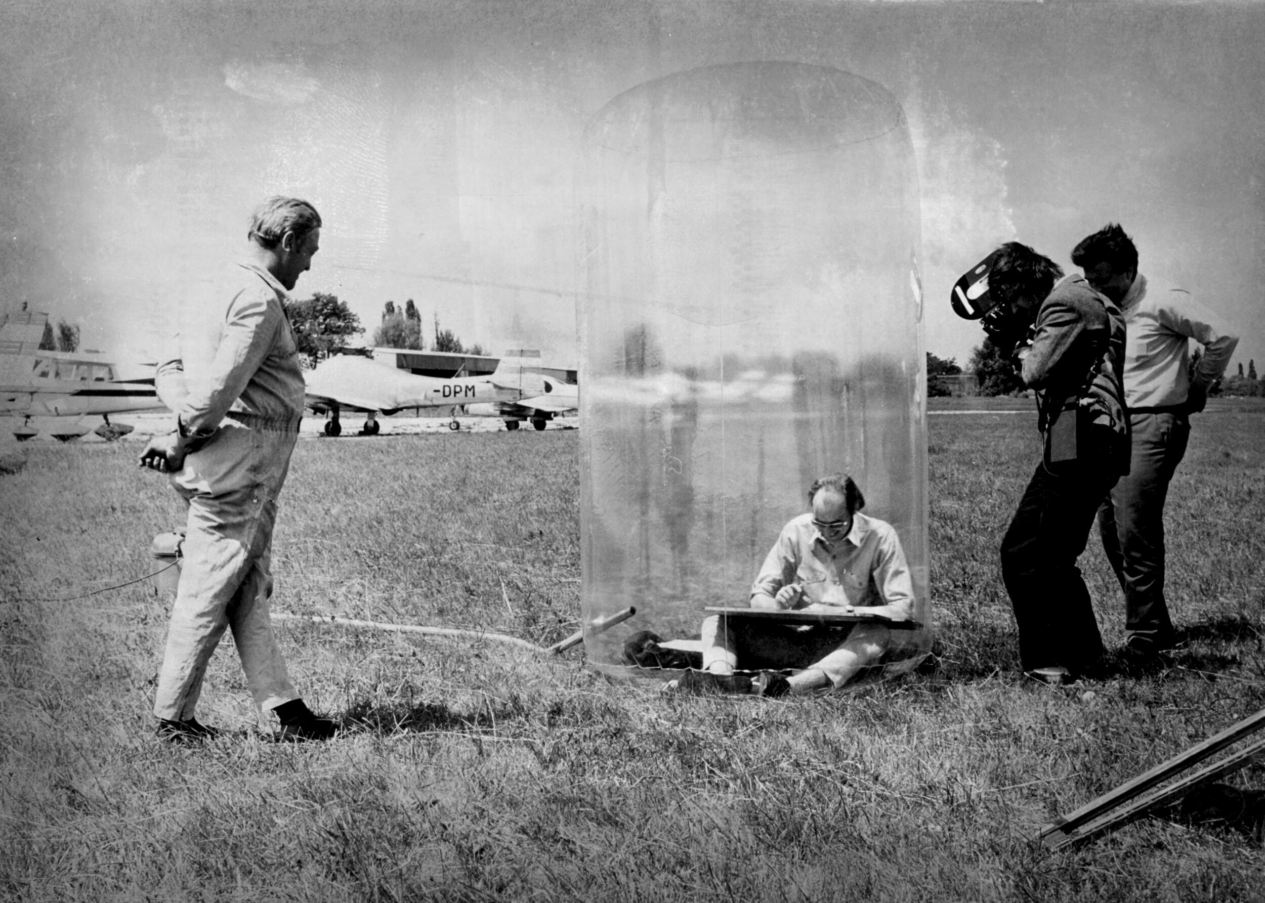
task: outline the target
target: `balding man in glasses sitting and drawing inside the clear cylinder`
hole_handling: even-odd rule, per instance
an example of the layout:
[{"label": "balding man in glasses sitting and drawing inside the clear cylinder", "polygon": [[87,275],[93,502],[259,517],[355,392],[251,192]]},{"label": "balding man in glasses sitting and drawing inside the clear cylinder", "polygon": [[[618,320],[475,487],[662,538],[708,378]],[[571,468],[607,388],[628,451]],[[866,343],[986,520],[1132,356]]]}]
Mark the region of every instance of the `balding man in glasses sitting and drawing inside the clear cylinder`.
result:
[{"label": "balding man in glasses sitting and drawing inside the clear cylinder", "polygon": [[[750,607],[875,620],[803,625],[712,615],[702,624],[703,669],[687,672],[677,688],[784,696],[841,687],[892,648],[885,620],[912,620],[913,582],[901,540],[892,525],[860,513],[865,498],[853,478],[815,481],[808,505],[810,512],[782,527],[751,584]],[[760,673],[751,679],[739,669]]]}]

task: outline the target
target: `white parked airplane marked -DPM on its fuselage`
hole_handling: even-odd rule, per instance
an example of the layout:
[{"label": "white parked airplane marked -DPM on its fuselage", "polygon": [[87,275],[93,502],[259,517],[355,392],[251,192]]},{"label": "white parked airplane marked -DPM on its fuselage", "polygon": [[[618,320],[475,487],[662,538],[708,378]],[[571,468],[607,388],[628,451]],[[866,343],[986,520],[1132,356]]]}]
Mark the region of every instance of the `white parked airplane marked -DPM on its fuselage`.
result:
[{"label": "white parked airplane marked -DPM on its fuselage", "polygon": [[[434,352],[402,352],[393,354],[434,357]],[[462,355],[449,355],[453,358]],[[397,358],[398,362],[398,358]],[[409,407],[449,407],[449,429],[459,429],[458,411],[468,416],[501,417],[507,430],[530,420],[538,430],[555,415],[579,407],[579,390],[554,376],[545,376],[540,352],[514,349],[506,352],[492,373],[468,377],[428,377],[392,367],[381,359],[359,355],[338,355],[321,362],[305,374],[307,407],[329,414],[325,435],[343,431],[340,411],[366,415],[362,435],[377,435],[379,414],[391,415]]]}]

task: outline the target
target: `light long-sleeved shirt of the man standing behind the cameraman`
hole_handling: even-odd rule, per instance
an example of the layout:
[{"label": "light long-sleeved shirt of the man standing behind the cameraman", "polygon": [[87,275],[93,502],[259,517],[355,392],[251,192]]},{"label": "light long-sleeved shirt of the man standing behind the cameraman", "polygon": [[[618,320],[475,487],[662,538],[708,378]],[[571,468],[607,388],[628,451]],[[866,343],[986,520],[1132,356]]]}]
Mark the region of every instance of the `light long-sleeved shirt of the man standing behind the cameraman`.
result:
[{"label": "light long-sleeved shirt of the man standing behind the cameraman", "polygon": [[1226,372],[1238,344],[1221,317],[1190,292],[1141,273],[1121,300],[1125,311],[1125,400],[1132,407],[1183,405],[1190,387],[1189,339],[1203,345],[1194,382],[1208,387]]}]

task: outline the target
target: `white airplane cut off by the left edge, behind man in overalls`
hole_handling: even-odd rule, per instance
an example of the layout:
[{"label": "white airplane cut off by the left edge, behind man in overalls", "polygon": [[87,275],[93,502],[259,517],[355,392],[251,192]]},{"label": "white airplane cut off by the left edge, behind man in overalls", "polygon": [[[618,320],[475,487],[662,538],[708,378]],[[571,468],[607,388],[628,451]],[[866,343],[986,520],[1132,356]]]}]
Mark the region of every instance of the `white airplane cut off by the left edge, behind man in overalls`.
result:
[{"label": "white airplane cut off by the left edge, behind man in overalls", "polygon": [[40,350],[47,320],[47,314],[22,310],[0,322],[0,416],[23,419],[14,430],[19,440],[40,426],[62,441],[77,439],[90,430],[85,416],[100,416],[105,422],[96,434],[118,439],[132,426],[111,424],[111,414],[163,410],[153,373],[119,379],[114,363],[91,353]]}]

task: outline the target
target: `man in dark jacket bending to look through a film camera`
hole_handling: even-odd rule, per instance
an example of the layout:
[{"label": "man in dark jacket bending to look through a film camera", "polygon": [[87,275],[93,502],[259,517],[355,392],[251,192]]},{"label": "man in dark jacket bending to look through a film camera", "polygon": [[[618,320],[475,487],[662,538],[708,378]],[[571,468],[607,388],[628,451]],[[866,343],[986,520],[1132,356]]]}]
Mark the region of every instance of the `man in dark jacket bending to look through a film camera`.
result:
[{"label": "man in dark jacket bending to look through a film camera", "polygon": [[1020,659],[1028,675],[1066,683],[1095,670],[1103,653],[1077,559],[1103,497],[1128,469],[1125,319],[1083,277],[1064,276],[1017,242],[974,273],[987,278],[985,331],[1003,353],[1018,345],[1023,383],[1037,391],[1042,459],[1001,549]]}]

